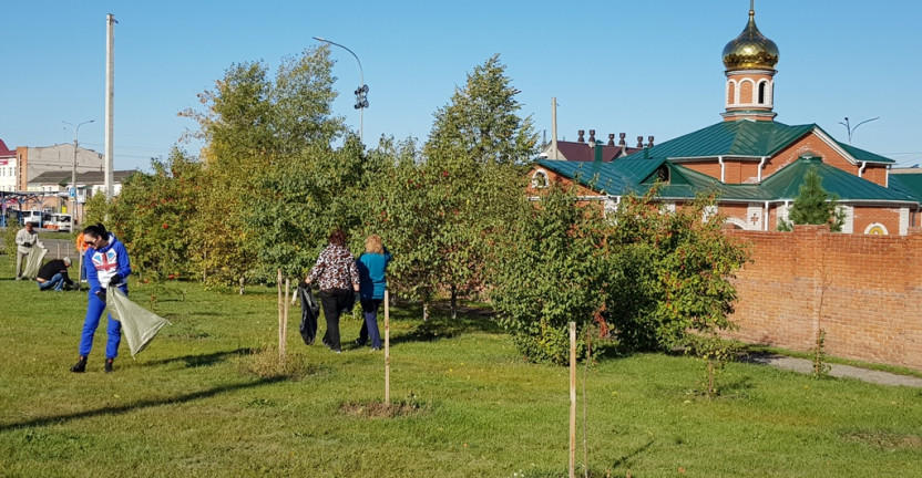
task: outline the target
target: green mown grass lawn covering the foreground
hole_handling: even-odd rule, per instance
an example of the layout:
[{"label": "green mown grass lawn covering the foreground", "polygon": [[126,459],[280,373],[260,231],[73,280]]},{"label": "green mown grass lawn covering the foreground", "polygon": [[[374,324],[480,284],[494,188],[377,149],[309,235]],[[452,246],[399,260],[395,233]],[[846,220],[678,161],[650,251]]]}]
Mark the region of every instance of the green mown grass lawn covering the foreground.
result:
[{"label": "green mown grass lawn covering the foreground", "polygon": [[[274,289],[170,283],[155,306],[173,325],[137,360],[123,343],[102,373],[101,326],[88,372],[73,374],[85,292],[11,277],[0,256],[2,477],[566,476],[568,373],[523,362],[489,318],[396,310],[391,393],[404,406],[387,417],[372,413],[383,355],[305,346],[297,309],[291,373],[267,373]],[[132,284],[136,302],[150,294]],[[359,325],[344,321],[345,342]],[[922,476],[919,389],[731,364],[707,399],[703,375],[680,356],[600,360],[586,383],[592,476]]]}]

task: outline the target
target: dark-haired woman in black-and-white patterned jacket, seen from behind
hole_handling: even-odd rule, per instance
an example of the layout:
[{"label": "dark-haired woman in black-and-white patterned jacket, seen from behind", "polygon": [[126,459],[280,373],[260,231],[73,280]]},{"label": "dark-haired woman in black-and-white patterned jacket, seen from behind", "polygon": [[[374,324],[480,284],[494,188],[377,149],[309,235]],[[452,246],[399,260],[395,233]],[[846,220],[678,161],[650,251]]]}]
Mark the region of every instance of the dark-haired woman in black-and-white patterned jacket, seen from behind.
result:
[{"label": "dark-haired woman in black-and-white patterned jacket, seen from behind", "polygon": [[330,245],[320,252],[305,282],[309,284],[317,281],[320,287],[320,304],[327,320],[324,344],[339,353],[342,350],[339,315],[355,302],[355,293],[359,291],[359,270],[356,258],[346,249],[346,233],[342,230],[332,231],[329,241]]}]

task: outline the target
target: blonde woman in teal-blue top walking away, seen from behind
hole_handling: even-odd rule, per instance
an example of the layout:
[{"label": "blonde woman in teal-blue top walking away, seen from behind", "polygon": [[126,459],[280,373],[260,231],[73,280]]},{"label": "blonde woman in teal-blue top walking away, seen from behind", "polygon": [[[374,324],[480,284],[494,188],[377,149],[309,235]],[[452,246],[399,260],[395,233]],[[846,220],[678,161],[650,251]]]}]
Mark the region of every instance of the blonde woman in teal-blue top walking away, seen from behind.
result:
[{"label": "blonde woman in teal-blue top walking away, seen from behind", "polygon": [[361,346],[371,335],[371,350],[381,349],[381,333],[378,331],[378,308],[385,299],[388,287],[386,277],[390,252],[381,246],[381,237],[371,235],[365,240],[365,253],[356,261],[359,268],[359,299],[365,313],[365,323],[356,343]]}]

